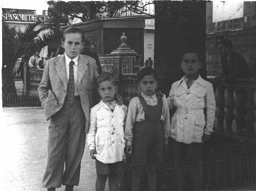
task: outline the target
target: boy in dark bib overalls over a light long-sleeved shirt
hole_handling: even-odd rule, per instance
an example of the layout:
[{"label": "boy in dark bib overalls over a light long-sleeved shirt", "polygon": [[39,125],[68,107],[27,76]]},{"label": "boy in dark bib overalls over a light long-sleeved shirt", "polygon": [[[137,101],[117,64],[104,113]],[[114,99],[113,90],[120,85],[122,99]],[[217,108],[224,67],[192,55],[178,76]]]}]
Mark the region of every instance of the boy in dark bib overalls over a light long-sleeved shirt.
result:
[{"label": "boy in dark bib overalls over a light long-sleeved shirt", "polygon": [[156,172],[164,162],[164,148],[165,152],[168,148],[170,115],[165,95],[156,96],[156,70],[143,68],[137,78],[142,92],[130,100],[124,133],[126,151],[132,155],[132,190],[139,190],[140,178],[146,171],[149,190],[155,191]]}]

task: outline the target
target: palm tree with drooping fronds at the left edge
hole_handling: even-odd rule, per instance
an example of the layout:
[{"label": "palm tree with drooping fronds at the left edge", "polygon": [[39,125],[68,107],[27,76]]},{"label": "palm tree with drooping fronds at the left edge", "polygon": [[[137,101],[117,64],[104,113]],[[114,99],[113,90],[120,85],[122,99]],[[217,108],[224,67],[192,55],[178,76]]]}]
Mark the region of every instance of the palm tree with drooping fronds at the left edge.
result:
[{"label": "palm tree with drooping fronds at the left edge", "polygon": [[[24,62],[50,42],[61,38],[61,31],[52,31],[47,26],[32,23],[24,30],[10,28],[2,24],[3,60],[2,60],[2,92],[15,93],[14,67],[18,58]],[[40,35],[39,35],[40,34]],[[41,35],[42,34],[42,35]]]}]

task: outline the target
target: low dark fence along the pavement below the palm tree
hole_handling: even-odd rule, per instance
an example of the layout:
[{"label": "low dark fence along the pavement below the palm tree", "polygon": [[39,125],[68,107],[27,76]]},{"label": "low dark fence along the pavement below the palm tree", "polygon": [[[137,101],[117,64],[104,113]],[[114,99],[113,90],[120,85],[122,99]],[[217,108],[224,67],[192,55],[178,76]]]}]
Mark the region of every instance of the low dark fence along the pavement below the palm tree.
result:
[{"label": "low dark fence along the pavement below the palm tree", "polygon": [[35,95],[18,95],[2,94],[3,107],[40,107],[39,96]]}]

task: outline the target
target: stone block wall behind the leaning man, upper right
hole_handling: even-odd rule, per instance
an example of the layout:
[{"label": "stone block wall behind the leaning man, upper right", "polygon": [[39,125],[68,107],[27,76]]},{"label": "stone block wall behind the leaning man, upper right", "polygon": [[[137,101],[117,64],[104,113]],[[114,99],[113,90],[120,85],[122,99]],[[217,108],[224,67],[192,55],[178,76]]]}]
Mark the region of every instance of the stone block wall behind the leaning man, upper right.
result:
[{"label": "stone block wall behind the leaning man, upper right", "polygon": [[[206,70],[207,75],[220,75],[220,54],[217,51],[217,39],[225,37],[233,43],[233,50],[239,52],[253,69],[256,59],[256,2],[244,2],[243,17],[212,23],[211,3],[207,4],[206,23]],[[256,67],[256,66],[255,66]]]}]

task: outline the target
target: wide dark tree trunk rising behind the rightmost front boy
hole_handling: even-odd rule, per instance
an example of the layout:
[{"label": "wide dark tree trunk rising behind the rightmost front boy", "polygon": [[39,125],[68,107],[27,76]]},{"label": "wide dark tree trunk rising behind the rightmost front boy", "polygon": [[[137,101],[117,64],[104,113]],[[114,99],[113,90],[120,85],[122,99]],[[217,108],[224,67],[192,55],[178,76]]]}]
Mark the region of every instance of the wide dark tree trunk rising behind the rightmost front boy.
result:
[{"label": "wide dark tree trunk rising behind the rightmost front boy", "polygon": [[184,50],[199,51],[205,65],[205,1],[155,1],[155,68],[160,73],[159,89],[165,94],[174,81],[184,75],[181,57]]}]

